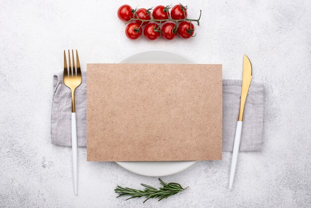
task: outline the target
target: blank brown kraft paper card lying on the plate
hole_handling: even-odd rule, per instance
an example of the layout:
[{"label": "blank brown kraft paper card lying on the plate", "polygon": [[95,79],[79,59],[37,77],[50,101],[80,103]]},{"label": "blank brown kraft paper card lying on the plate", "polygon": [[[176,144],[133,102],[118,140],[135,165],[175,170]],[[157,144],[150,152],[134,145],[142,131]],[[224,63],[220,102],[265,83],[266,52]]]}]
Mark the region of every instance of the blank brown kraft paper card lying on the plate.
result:
[{"label": "blank brown kraft paper card lying on the plate", "polygon": [[222,65],[87,64],[87,160],[221,160],[222,89]]}]

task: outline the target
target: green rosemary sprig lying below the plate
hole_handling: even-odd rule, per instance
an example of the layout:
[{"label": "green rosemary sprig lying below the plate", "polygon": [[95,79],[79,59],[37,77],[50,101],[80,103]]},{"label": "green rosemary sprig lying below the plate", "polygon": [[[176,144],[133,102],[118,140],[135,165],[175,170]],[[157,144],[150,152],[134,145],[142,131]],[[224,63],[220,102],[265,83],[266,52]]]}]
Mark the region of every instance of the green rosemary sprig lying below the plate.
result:
[{"label": "green rosemary sprig lying below the plate", "polygon": [[179,192],[182,192],[188,188],[188,187],[182,188],[180,184],[177,184],[177,183],[166,184],[161,179],[159,179],[159,181],[160,181],[160,184],[163,186],[163,187],[160,187],[159,189],[156,189],[152,186],[148,186],[146,184],[141,184],[143,187],[145,187],[144,190],[136,190],[136,189],[123,188],[123,187],[117,186],[117,188],[114,191],[119,194],[117,198],[131,196],[130,198],[126,200],[145,197],[146,199],[144,201],[145,203],[149,199],[158,199],[158,201],[161,201]]}]

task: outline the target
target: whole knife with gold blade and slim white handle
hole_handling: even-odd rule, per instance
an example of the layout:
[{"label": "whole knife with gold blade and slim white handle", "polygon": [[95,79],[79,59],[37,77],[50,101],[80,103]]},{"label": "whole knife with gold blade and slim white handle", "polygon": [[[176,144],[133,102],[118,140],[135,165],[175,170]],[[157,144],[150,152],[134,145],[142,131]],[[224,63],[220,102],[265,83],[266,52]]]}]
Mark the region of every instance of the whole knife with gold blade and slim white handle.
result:
[{"label": "whole knife with gold blade and slim white handle", "polygon": [[246,96],[247,96],[248,89],[249,89],[250,82],[251,82],[251,72],[252,72],[251,63],[248,57],[244,54],[241,103],[240,103],[240,112],[238,114],[238,120],[236,124],[234,144],[233,144],[229,189],[231,189],[233,185],[233,179],[234,179],[235,168],[236,168],[236,163],[237,163],[238,149],[240,146],[240,139],[241,139],[244,105],[245,105]]}]

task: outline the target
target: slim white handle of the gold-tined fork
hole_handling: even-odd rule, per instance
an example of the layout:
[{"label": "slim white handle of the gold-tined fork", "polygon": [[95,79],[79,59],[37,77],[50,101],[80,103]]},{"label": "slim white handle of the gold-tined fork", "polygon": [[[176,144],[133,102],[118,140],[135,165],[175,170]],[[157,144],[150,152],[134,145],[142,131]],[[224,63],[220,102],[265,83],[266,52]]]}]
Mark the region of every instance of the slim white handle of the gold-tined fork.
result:
[{"label": "slim white handle of the gold-tined fork", "polygon": [[76,113],[71,113],[71,141],[73,149],[73,170],[74,170],[74,183],[75,195],[78,194],[78,141],[77,141],[77,121]]}]

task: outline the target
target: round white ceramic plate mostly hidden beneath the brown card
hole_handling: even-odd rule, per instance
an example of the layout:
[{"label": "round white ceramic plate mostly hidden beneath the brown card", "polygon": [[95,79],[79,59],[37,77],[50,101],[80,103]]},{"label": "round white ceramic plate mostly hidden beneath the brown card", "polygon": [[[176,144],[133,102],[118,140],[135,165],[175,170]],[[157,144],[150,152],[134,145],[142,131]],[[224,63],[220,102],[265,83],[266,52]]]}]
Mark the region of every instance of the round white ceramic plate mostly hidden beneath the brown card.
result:
[{"label": "round white ceramic plate mostly hidden beneath the brown card", "polygon": [[[147,50],[122,59],[127,64],[194,64],[187,57],[166,50]],[[117,162],[123,168],[144,176],[167,176],[189,168],[196,161]]]}]

